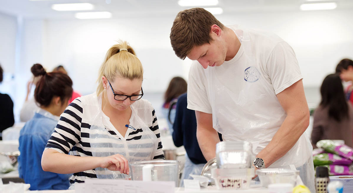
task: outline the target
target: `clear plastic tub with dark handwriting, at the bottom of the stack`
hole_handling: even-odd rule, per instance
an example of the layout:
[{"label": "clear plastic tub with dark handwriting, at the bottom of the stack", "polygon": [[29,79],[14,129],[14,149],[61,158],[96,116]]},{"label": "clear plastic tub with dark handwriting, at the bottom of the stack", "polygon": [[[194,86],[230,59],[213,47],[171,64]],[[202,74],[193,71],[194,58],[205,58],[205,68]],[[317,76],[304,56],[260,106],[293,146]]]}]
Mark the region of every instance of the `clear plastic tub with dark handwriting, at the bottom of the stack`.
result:
[{"label": "clear plastic tub with dark handwriting, at the bottom of the stack", "polygon": [[254,168],[213,168],[211,173],[217,189],[248,189],[251,178],[255,176],[254,170]]}]

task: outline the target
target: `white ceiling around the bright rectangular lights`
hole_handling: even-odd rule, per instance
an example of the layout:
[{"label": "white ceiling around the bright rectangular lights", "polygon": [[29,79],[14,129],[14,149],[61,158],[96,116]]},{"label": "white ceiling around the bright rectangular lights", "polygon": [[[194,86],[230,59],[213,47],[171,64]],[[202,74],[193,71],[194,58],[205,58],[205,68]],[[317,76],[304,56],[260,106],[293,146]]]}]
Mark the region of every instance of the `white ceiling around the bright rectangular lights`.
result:
[{"label": "white ceiling around the bright rectangular lights", "polygon": [[[106,1],[111,1],[109,4]],[[113,18],[175,16],[179,11],[190,7],[181,7],[178,0],[0,0],[0,13],[11,16],[38,19],[74,19],[74,13],[80,11],[55,11],[52,4],[82,3],[94,5],[92,11],[109,11]],[[244,12],[286,12],[299,11],[299,6],[307,0],[219,0],[217,7],[223,8],[223,14]],[[337,10],[353,9],[353,0],[322,0],[337,2]]]}]

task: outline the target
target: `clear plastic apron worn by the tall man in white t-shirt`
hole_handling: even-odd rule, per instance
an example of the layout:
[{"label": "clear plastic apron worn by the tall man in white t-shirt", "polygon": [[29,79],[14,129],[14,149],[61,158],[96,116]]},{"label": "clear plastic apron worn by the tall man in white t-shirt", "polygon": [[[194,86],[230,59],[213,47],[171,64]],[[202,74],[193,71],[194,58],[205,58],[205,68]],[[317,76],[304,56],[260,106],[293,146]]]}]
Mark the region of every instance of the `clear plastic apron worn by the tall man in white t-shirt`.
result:
[{"label": "clear plastic apron worn by the tall man in white t-shirt", "polygon": [[[253,54],[262,52],[261,45],[251,42],[254,33],[249,34],[248,30],[237,29],[238,26],[230,26],[230,28],[234,30],[241,42],[235,56],[239,57],[240,61],[237,65],[227,65],[225,62],[222,66],[226,70],[222,73],[215,69],[217,67],[207,68],[204,71],[209,90],[207,94],[212,108],[213,128],[222,134],[225,141],[249,141],[252,143],[253,153],[257,155],[278,131],[286,118],[286,112],[276,97],[269,75],[261,73],[267,71],[264,65],[260,65],[263,61],[259,54]],[[243,70],[239,71],[239,69]],[[235,78],[239,76],[244,79],[240,81],[240,78]],[[300,177],[304,184],[315,192],[312,146],[305,133],[269,168],[290,169],[289,164],[294,164],[300,170]]]}]

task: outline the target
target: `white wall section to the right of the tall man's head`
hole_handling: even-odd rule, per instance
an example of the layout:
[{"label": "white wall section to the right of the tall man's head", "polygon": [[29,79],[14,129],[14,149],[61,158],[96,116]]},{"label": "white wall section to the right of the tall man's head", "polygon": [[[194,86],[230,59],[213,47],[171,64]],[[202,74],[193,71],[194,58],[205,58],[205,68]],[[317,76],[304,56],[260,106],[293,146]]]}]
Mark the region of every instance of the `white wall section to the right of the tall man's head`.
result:
[{"label": "white wall section to the right of the tall man's head", "polygon": [[225,24],[275,32],[294,49],[304,86],[320,86],[342,58],[353,58],[353,11],[301,11],[218,17]]}]

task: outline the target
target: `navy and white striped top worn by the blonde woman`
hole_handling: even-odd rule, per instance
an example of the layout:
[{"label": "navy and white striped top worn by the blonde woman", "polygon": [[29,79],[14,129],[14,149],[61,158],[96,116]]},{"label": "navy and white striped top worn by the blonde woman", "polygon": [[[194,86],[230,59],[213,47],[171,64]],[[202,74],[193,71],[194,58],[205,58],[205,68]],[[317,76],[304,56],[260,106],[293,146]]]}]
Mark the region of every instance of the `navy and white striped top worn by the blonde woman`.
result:
[{"label": "navy and white striped top worn by the blonde woman", "polygon": [[[119,153],[129,162],[164,159],[157,117],[150,102],[140,99],[132,104],[130,126],[133,128],[128,128],[125,136],[122,136],[109,121],[109,117],[102,112],[100,100],[101,96],[97,97],[94,93],[72,101],[61,114],[46,149],[74,156],[109,156]],[[136,118],[134,112],[137,112],[140,119]],[[98,113],[102,115],[100,119],[97,119]],[[149,128],[142,127],[141,120]],[[102,126],[97,129],[96,125],[100,124]],[[151,136],[154,144],[151,144]],[[97,172],[96,169],[91,169],[74,173],[70,183],[97,178]]]}]

